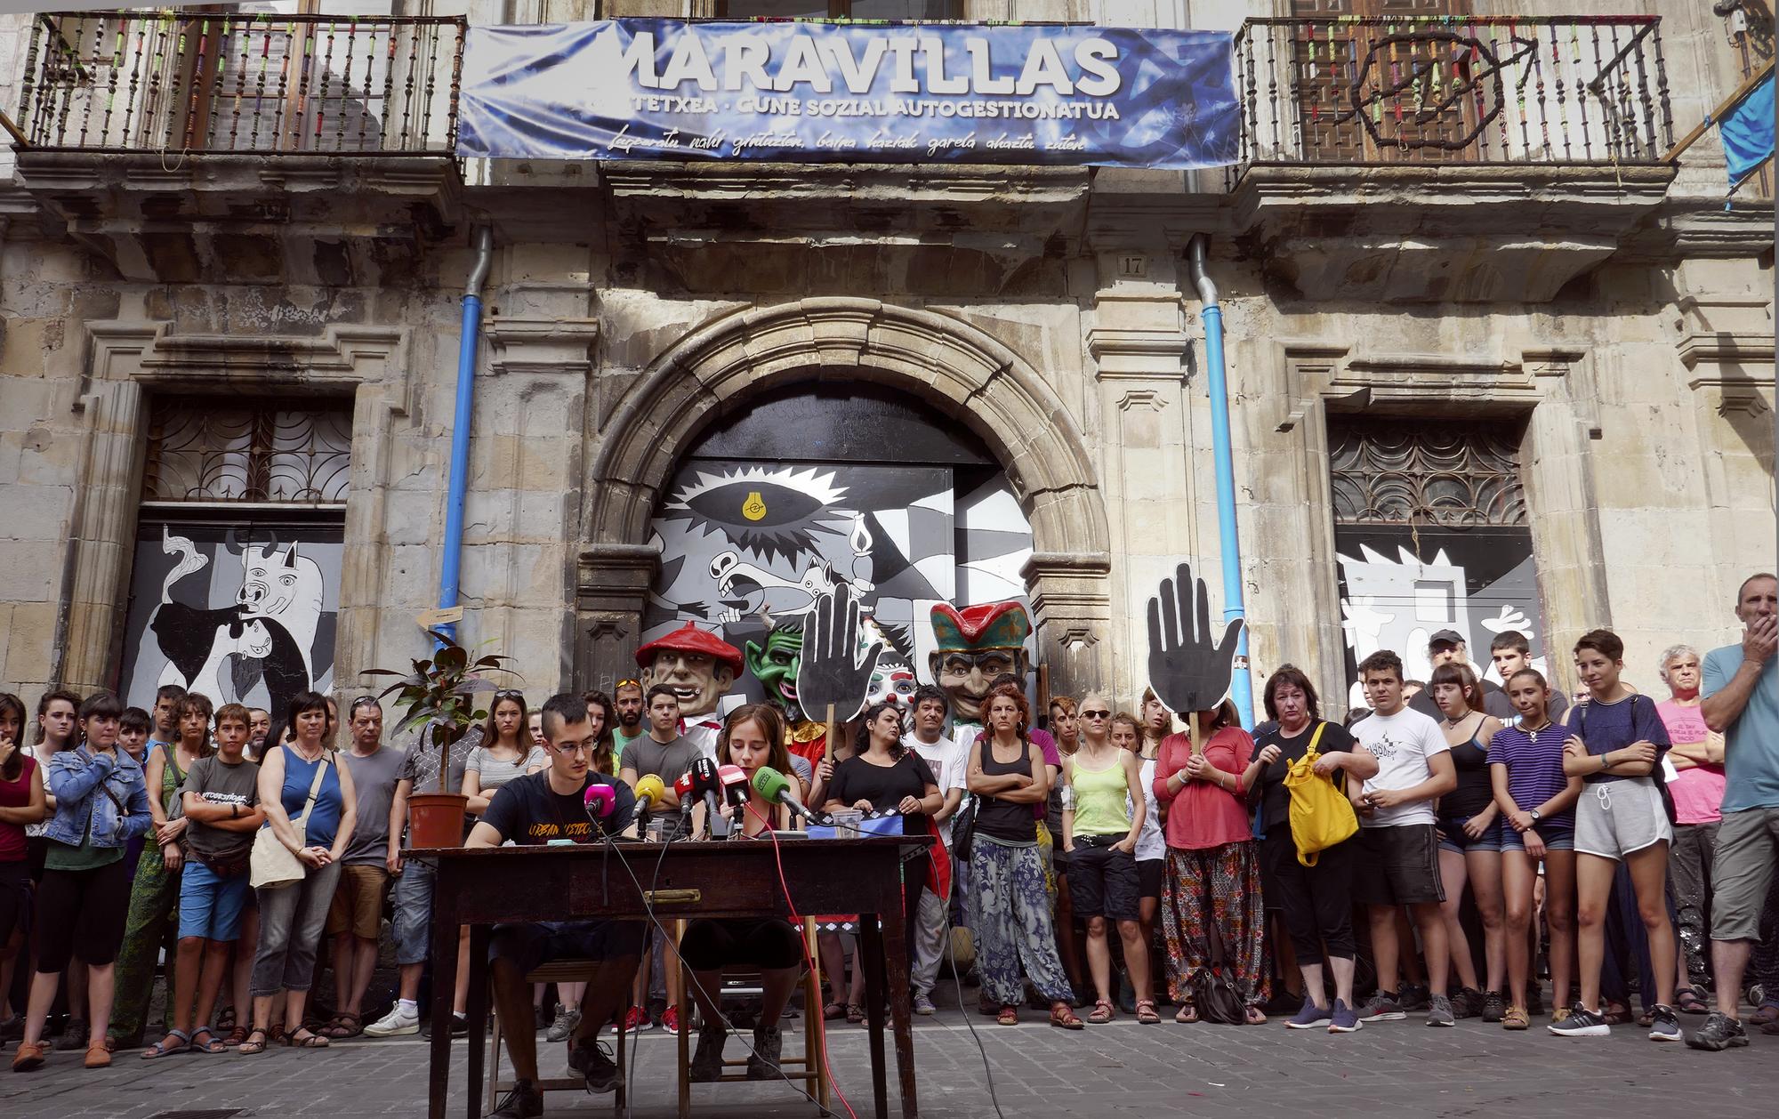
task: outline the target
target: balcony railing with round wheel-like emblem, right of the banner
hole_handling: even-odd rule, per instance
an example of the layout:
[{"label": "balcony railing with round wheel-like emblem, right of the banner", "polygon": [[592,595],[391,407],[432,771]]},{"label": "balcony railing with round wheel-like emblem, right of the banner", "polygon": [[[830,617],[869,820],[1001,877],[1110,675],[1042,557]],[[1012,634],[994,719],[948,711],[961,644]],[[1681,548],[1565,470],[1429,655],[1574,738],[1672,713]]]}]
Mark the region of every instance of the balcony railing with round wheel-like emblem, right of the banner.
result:
[{"label": "balcony railing with round wheel-like emblem, right of the banner", "polygon": [[1249,20],[1242,158],[1656,164],[1674,142],[1654,16]]}]

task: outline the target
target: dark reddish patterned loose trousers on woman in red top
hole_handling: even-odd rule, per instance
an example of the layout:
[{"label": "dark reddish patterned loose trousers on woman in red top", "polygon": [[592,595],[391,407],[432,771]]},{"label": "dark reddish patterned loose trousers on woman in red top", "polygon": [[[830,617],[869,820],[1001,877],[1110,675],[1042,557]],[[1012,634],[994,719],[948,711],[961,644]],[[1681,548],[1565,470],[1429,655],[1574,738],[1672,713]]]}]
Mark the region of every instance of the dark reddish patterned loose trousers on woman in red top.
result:
[{"label": "dark reddish patterned loose trousers on woman in red top", "polygon": [[1260,900],[1260,856],[1251,840],[1201,850],[1167,849],[1162,934],[1167,938],[1167,996],[1192,1003],[1192,977],[1211,962],[1211,925],[1224,968],[1242,1002],[1265,1002],[1267,911]]}]

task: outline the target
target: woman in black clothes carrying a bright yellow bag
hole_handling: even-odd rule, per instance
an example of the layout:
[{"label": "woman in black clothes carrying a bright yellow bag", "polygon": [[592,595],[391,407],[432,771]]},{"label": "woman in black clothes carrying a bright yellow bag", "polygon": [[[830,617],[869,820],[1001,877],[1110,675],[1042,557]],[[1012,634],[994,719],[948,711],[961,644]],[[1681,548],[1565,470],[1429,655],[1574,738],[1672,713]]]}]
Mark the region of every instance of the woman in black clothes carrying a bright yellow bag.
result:
[{"label": "woman in black clothes carrying a bright yellow bag", "polygon": [[[1322,719],[1316,688],[1302,669],[1281,665],[1267,680],[1265,704],[1267,715],[1279,726],[1256,742],[1260,776],[1254,795],[1263,827],[1260,861],[1267,897],[1284,913],[1297,970],[1304,975],[1304,1005],[1284,1025],[1352,1034],[1361,1025],[1352,1000],[1352,863],[1357,847],[1350,836],[1357,820],[1334,781],[1364,781],[1377,774],[1377,758],[1370,751],[1356,751],[1345,728]],[[1313,799],[1315,792],[1334,795]],[[1322,802],[1331,808],[1304,811],[1308,804]],[[1341,806],[1348,838],[1324,847],[1343,829],[1334,818],[1334,809]],[[1324,945],[1334,973],[1332,1003],[1322,986]]]}]

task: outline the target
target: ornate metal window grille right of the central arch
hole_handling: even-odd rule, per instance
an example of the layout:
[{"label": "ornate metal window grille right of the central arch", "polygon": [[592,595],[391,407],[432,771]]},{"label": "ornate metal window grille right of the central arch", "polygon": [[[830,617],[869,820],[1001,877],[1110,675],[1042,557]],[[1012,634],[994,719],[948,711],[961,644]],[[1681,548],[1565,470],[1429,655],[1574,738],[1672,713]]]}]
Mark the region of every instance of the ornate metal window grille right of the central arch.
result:
[{"label": "ornate metal window grille right of the central arch", "polygon": [[1514,423],[1332,420],[1336,525],[1525,527]]}]

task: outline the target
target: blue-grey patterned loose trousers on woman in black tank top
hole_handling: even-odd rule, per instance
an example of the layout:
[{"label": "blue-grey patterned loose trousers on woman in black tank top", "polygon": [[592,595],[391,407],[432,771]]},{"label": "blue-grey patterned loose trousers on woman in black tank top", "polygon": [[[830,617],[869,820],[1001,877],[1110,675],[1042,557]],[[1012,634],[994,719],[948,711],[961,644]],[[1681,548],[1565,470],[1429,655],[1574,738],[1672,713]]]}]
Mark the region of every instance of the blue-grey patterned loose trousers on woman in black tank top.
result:
[{"label": "blue-grey patterned loose trousers on woman in black tank top", "polygon": [[1021,970],[1044,1000],[1073,1002],[1037,847],[1009,847],[978,831],[970,850],[970,932],[977,938],[984,1002],[1025,1002]]}]

